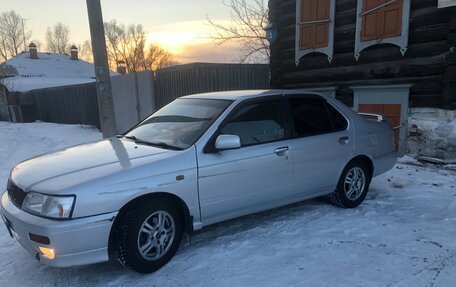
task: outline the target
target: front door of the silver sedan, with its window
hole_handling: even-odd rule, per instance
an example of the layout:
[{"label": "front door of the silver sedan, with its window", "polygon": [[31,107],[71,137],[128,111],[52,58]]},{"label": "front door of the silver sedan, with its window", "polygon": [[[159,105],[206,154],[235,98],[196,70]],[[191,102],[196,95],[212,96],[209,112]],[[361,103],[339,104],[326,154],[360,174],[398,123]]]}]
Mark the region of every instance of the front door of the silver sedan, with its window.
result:
[{"label": "front door of the silver sedan, with its window", "polygon": [[[203,224],[274,206],[293,184],[291,141],[283,96],[250,100],[236,107],[198,154]],[[241,147],[215,150],[220,134],[238,135]]]}]

